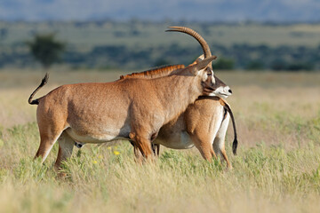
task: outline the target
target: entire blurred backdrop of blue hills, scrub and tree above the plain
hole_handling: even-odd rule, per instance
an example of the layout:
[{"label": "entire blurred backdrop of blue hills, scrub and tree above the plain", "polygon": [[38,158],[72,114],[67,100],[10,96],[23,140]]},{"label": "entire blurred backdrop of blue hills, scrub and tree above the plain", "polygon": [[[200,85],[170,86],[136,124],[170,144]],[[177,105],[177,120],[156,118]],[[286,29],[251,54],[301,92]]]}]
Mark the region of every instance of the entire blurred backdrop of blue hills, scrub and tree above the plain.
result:
[{"label": "entire blurred backdrop of blue hills, scrub and tree above the plain", "polygon": [[188,64],[202,53],[199,32],[219,70],[320,69],[316,0],[164,0],[0,2],[0,69],[143,70]]}]

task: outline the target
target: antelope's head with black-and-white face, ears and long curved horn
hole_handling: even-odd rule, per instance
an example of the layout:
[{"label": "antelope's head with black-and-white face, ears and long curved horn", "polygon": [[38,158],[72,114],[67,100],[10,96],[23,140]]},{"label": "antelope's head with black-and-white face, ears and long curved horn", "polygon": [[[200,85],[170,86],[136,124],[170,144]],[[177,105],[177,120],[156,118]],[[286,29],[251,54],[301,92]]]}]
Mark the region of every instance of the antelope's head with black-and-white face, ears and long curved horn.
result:
[{"label": "antelope's head with black-and-white face, ears and long curved horn", "polygon": [[[169,27],[169,29],[166,30],[166,32],[181,32],[196,38],[196,41],[200,43],[204,51],[204,55],[196,59],[196,61],[193,64],[191,64],[190,67],[193,67],[196,65],[197,67],[201,67],[200,64],[206,64],[203,70],[195,74],[195,75],[203,76],[203,79],[202,79],[202,86],[204,88],[203,95],[218,96],[222,99],[227,99],[228,96],[232,94],[232,91],[226,83],[223,83],[216,75],[214,75],[211,61],[212,61],[212,58],[216,59],[216,57],[212,56],[209,45],[208,43],[205,42],[204,38],[200,36],[198,33],[196,33],[195,30],[191,28],[185,28],[185,27]],[[210,59],[210,63],[205,62],[208,59]]]}]

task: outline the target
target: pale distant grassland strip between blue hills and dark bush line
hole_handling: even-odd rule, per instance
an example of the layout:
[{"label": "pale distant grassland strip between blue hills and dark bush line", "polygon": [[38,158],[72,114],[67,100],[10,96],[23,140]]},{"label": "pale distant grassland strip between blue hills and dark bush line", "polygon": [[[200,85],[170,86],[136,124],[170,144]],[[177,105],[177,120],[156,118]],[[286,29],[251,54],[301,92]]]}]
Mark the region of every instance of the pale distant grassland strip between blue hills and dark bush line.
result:
[{"label": "pale distant grassland strip between blue hills and dark bush line", "polygon": [[[259,23],[214,24],[206,22],[1,22],[5,36],[0,44],[9,45],[31,39],[35,33],[56,32],[59,38],[82,51],[99,45],[125,45],[140,48],[178,43],[195,45],[188,36],[168,36],[169,26],[188,26],[206,38],[208,43],[232,45],[233,43],[277,45],[319,44],[320,24],[262,25]],[[141,39],[143,38],[143,39]]]}]

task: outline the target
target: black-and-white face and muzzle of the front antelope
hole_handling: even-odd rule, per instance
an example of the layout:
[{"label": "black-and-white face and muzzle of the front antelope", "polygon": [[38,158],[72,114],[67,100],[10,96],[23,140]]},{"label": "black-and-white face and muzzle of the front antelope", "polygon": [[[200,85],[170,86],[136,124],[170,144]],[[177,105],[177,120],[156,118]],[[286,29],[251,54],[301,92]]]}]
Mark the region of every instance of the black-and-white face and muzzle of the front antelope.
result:
[{"label": "black-and-white face and muzzle of the front antelope", "polygon": [[230,87],[213,75],[213,71],[209,67],[207,68],[207,76],[206,81],[203,82],[204,95],[227,99],[232,94]]}]

